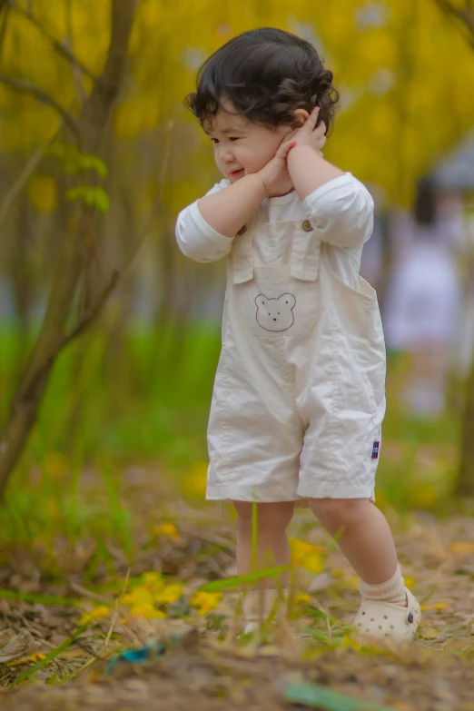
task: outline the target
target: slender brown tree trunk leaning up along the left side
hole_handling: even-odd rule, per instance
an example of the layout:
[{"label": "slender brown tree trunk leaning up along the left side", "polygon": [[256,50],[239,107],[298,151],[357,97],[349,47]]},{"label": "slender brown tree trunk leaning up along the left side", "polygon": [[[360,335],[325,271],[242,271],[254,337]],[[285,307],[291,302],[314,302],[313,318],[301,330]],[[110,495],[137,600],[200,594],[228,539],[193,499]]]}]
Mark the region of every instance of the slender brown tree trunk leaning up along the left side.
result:
[{"label": "slender brown tree trunk leaning up along the left side", "polygon": [[[80,116],[81,148],[84,153],[96,154],[99,151],[123,82],[134,11],[135,0],[113,0],[111,42],[104,71],[96,80]],[[94,184],[93,177],[89,180]],[[93,226],[94,208],[85,204],[72,207],[69,230],[57,257],[42,329],[16,390],[10,415],[0,432],[0,497],[35,424],[57,354],[53,358],[51,356],[64,336],[64,327],[84,269],[84,247],[94,239]]]}]

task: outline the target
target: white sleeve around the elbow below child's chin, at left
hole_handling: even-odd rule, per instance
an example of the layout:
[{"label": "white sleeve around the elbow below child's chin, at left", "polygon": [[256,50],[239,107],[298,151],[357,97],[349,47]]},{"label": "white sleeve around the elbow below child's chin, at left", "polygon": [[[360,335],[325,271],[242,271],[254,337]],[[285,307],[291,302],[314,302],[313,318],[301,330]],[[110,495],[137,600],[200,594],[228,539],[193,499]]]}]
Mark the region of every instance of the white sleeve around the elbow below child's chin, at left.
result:
[{"label": "white sleeve around the elbow below child's chin, at left", "polygon": [[[230,185],[222,180],[206,193],[219,193]],[[200,198],[201,199],[201,198]],[[183,254],[196,262],[215,262],[232,250],[232,237],[216,232],[202,217],[198,201],[185,207],[176,221],[176,241]]]}]

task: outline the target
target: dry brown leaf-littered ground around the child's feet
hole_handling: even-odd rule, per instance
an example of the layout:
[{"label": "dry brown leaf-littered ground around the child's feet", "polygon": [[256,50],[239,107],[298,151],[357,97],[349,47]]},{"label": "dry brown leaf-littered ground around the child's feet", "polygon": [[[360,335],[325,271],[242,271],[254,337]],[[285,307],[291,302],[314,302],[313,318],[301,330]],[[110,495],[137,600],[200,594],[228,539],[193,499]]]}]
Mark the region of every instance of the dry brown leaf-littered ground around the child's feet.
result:
[{"label": "dry brown leaf-littered ground around the child's feet", "polygon": [[[180,510],[180,543],[168,540],[158,548],[143,546],[137,570],[160,566],[166,574],[187,580],[194,588],[205,580],[232,574],[232,527],[224,519],[216,524],[212,516],[194,515],[185,507]],[[242,646],[232,637],[235,597],[229,594],[220,615],[160,620],[153,634],[163,641],[163,654],[143,664],[122,661],[112,670],[108,661],[95,658],[101,657],[104,627],[81,636],[67,653],[38,672],[34,681],[6,688],[25,667],[12,669],[0,664],[4,686],[0,688],[0,708],[136,711],[137,705],[145,704],[148,711],[282,711],[303,707],[472,711],[474,519],[454,516],[438,520],[427,514],[392,518],[403,573],[423,609],[418,637],[409,648],[360,648],[353,642],[347,632],[358,607],[353,572],[322,528],[302,511],[291,524],[291,535],[329,548],[323,572],[305,582],[311,591],[311,607],[319,611],[317,618],[302,613],[291,622],[283,620],[264,637]],[[22,566],[21,573],[13,562],[9,570],[3,570],[0,586],[11,587],[13,576],[16,585],[31,578],[25,560]],[[71,585],[72,589],[62,588],[61,592],[71,594],[82,589]],[[58,589],[54,592],[57,594]],[[0,635],[5,630],[15,634],[27,630],[35,638],[36,648],[45,654],[76,624],[77,610],[72,607],[0,600]],[[116,632],[127,635],[120,627]],[[133,638],[136,646],[137,639],[144,641],[147,637],[144,628],[142,637],[133,637],[133,630],[128,632],[130,647]],[[181,641],[176,641],[176,635]],[[80,671],[84,665],[87,667]],[[71,675],[74,677],[69,678]],[[60,683],[64,678],[67,680]],[[324,686],[348,698],[326,699],[323,703],[307,699],[301,705],[289,689],[290,685],[301,689],[302,682]],[[357,699],[364,703],[357,706]]]}]

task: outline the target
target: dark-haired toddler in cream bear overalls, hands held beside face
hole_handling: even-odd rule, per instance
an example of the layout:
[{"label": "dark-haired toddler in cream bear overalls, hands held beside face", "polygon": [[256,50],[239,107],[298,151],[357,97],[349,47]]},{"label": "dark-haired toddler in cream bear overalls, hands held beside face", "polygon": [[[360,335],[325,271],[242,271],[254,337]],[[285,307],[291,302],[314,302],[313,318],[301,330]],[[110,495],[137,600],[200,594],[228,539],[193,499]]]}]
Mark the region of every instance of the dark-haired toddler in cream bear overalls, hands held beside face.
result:
[{"label": "dark-haired toddler in cream bear overalls, hands held beside face", "polygon": [[[223,179],[180,213],[177,241],[198,262],[228,257],[207,499],[237,510],[240,575],[252,568],[252,502],[257,558],[280,566],[307,500],[360,578],[356,629],[410,641],[420,607],[373,503],[385,347],[359,274],[373,202],[321,153],[337,98],[310,43],[262,28],[212,54],[186,100]],[[266,585],[245,598],[248,619],[272,606]]]}]

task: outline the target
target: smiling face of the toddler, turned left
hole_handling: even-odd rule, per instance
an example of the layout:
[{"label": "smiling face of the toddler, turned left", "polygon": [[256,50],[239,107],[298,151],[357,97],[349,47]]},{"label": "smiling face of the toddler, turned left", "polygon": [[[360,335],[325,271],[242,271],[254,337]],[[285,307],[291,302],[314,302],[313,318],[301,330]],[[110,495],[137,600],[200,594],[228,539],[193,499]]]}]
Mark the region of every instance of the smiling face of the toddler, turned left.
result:
[{"label": "smiling face of the toddler, turned left", "polygon": [[214,144],[217,167],[224,178],[235,183],[244,175],[262,170],[272,160],[283,137],[291,133],[291,127],[265,128],[235,114],[232,104],[223,105],[225,111],[219,111],[212,123],[204,126],[204,131]]}]

